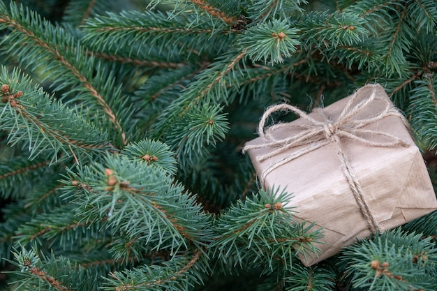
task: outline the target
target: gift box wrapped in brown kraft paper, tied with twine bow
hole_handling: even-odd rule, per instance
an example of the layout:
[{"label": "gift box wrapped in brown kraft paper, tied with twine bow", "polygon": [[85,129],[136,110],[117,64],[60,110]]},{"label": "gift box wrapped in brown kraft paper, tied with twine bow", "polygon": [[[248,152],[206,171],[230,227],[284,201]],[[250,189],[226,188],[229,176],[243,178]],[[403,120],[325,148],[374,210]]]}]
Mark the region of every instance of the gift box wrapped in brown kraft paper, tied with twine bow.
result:
[{"label": "gift box wrapped in brown kraft paper, tied with twine bow", "polygon": [[[299,119],[265,129],[272,112]],[[427,168],[407,124],[383,87],[369,84],[355,94],[306,114],[276,105],[261,119],[260,137],[245,145],[264,188],[293,193],[297,220],[323,227],[320,253],[309,266],[343,246],[437,209]]]}]

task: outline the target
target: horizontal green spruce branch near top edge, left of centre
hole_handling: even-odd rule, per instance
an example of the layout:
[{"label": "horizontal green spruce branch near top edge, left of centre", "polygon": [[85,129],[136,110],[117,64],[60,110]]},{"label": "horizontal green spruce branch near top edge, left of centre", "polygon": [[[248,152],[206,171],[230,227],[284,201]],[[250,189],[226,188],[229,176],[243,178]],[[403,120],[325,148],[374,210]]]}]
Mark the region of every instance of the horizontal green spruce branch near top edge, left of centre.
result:
[{"label": "horizontal green spruce branch near top edge, left of centre", "polygon": [[[168,50],[169,54],[200,54],[204,50],[214,50],[208,45],[210,42],[225,45],[229,38],[230,29],[226,25],[212,27],[208,21],[195,22],[190,14],[175,15],[171,20],[168,17],[169,15],[151,11],[126,11],[119,15],[109,13],[106,17],[88,20],[82,26],[83,39],[91,50],[98,52],[113,50],[117,54],[127,47],[128,56],[131,57],[147,48],[160,52]],[[235,32],[232,29],[231,31]],[[133,43],[139,45],[132,45]]]}]

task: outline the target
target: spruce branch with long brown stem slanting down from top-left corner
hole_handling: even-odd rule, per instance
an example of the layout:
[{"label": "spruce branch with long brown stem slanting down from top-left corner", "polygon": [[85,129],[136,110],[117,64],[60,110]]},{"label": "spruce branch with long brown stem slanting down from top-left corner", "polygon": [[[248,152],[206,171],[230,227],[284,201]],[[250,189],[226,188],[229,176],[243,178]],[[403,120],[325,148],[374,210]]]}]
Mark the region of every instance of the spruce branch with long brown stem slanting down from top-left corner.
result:
[{"label": "spruce branch with long brown stem slanting down from top-left corner", "polygon": [[[75,43],[73,38],[65,38],[66,33],[59,27],[53,27],[47,21],[43,21],[40,19],[38,15],[30,12],[29,10],[24,10],[24,8],[17,8],[13,3],[10,3],[10,10],[6,8],[5,4],[2,3],[0,5],[0,28],[2,29],[13,29],[10,31],[9,37],[3,39],[3,44],[8,44],[9,51],[17,52],[17,56],[21,57],[23,62],[27,62],[27,66],[32,64],[36,64],[36,66],[41,66],[42,64],[38,64],[37,60],[41,60],[40,56],[45,56],[47,59],[56,60],[56,62],[52,62],[47,68],[57,68],[61,72],[68,73],[73,80],[76,80],[74,84],[72,84],[71,80],[66,80],[66,78],[55,78],[54,84],[58,84],[57,89],[62,89],[67,86],[67,84],[72,84],[77,87],[77,83],[81,85],[81,89],[77,89],[78,91],[87,91],[87,93],[94,98],[94,105],[98,105],[103,109],[106,116],[110,120],[110,122],[114,125],[114,128],[121,135],[121,139],[124,144],[127,143],[126,133],[121,128],[121,123],[112,110],[110,104],[105,100],[105,98],[98,92],[96,89],[96,81],[93,80],[92,77],[85,75],[83,70],[80,70],[87,64],[90,67],[93,67],[94,60],[81,59],[77,52],[82,52],[82,47]],[[22,45],[22,43],[27,43],[27,45]],[[33,45],[30,45],[33,44]],[[60,47],[66,47],[67,50],[62,50]],[[29,51],[31,52],[29,54]],[[38,55],[39,57],[36,59],[29,59],[29,57],[33,57]],[[47,61],[47,59],[45,61]],[[44,62],[44,61],[43,61]],[[50,73],[50,75],[59,75],[59,71],[57,73]],[[92,72],[92,70],[89,70]],[[49,75],[49,76],[50,76]],[[61,82],[64,82],[61,84]],[[110,84],[110,80],[107,84]],[[108,91],[108,89],[105,89]],[[73,94],[74,90],[70,92]],[[116,91],[117,92],[117,91]],[[77,100],[77,97],[76,97]],[[83,102],[83,100],[81,100]],[[89,101],[89,100],[88,100]],[[91,106],[92,107],[92,106]]]}]

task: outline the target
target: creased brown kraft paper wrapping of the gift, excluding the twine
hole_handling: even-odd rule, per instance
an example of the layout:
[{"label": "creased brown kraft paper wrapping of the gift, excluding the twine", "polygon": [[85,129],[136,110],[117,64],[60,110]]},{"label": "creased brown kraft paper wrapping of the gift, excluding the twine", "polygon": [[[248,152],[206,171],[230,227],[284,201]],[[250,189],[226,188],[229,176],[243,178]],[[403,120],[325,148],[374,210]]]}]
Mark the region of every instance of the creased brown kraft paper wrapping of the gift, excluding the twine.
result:
[{"label": "creased brown kraft paper wrapping of the gift, excluding the twine", "polygon": [[[378,114],[378,110],[385,106],[385,103],[381,102],[384,98],[390,102],[383,87],[378,84],[360,89],[357,102],[367,98],[371,90],[376,90],[378,98],[357,114],[355,119]],[[350,97],[325,107],[325,116],[336,120]],[[391,102],[390,105],[392,106]],[[316,112],[309,114],[314,119],[323,120],[318,115]],[[277,138],[297,135],[302,132],[297,125],[304,122],[299,118],[292,121],[290,126],[277,128],[272,135]],[[359,140],[341,138],[343,151],[353,167],[380,230],[389,230],[437,209],[436,195],[427,168],[402,119],[388,116],[364,128],[389,133],[408,144],[406,147],[370,147]],[[375,141],[385,139],[379,135],[364,138]],[[247,145],[263,143],[265,140],[258,137]],[[274,149],[265,147],[249,149],[248,152],[260,176],[270,165],[304,147],[307,145],[288,149],[262,162],[257,161],[256,157]],[[332,144],[326,144],[295,158],[267,174],[265,187],[272,186],[280,186],[286,188],[288,193],[294,193],[290,205],[286,206],[296,207],[297,219],[314,222],[318,228],[323,227],[325,238],[322,241],[325,244],[316,244],[321,254],[310,253],[306,258],[301,257],[306,266],[329,258],[338,253],[343,246],[371,234],[369,225],[351,193],[341,169],[339,156]]]}]

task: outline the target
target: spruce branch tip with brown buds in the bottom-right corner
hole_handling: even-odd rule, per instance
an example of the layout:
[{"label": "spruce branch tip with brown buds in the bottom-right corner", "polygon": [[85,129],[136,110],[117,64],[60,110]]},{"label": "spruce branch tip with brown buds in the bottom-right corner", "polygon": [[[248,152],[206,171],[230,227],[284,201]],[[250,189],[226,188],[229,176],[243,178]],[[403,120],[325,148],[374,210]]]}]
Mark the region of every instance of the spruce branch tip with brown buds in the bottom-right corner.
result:
[{"label": "spruce branch tip with brown buds in the bottom-right corner", "polygon": [[[369,290],[434,290],[436,249],[421,234],[392,230],[346,248],[342,258],[354,288]],[[413,275],[414,274],[414,275]]]}]

